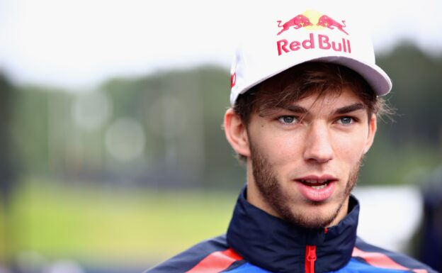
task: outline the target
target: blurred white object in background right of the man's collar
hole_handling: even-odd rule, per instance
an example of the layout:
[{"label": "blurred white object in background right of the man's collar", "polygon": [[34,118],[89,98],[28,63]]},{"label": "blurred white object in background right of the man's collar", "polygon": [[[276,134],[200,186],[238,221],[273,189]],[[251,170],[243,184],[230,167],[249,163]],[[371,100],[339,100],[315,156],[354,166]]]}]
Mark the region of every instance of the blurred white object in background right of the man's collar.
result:
[{"label": "blurred white object in background right of the man's collar", "polygon": [[358,236],[387,250],[404,252],[422,219],[421,192],[414,186],[358,186]]}]

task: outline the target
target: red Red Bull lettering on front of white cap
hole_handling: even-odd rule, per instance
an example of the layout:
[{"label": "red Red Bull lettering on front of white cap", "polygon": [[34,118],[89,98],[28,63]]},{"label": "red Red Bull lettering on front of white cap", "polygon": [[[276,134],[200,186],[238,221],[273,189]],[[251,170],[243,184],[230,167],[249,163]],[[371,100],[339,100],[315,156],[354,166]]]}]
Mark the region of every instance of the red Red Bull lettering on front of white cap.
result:
[{"label": "red Red Bull lettering on front of white cap", "polygon": [[284,52],[300,50],[301,48],[305,50],[314,49],[316,46],[322,50],[351,53],[350,40],[342,38],[339,42],[331,41],[329,36],[323,34],[318,34],[317,39],[314,39],[313,33],[310,33],[310,38],[302,41],[294,40],[289,42],[282,39],[278,40],[276,45],[278,46],[278,55],[282,55]]}]

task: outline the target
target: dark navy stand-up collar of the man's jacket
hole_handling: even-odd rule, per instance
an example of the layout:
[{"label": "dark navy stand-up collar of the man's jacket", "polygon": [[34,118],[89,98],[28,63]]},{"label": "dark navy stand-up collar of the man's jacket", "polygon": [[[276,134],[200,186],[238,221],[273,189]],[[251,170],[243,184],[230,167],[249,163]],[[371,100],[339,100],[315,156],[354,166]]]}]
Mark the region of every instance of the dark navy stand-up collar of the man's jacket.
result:
[{"label": "dark navy stand-up collar of the man's jacket", "polygon": [[306,245],[316,245],[315,272],[344,267],[356,242],[359,203],[350,197],[347,216],[324,229],[291,225],[246,201],[242,189],[227,230],[227,243],[245,260],[272,272],[305,272]]}]

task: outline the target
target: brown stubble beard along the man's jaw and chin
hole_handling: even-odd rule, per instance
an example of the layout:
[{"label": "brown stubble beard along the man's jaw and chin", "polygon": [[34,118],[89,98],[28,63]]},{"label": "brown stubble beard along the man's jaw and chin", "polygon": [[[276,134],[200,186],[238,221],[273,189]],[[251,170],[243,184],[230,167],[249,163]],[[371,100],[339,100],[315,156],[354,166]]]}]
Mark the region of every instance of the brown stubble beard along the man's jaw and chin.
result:
[{"label": "brown stubble beard along the man's jaw and chin", "polygon": [[[278,182],[278,178],[266,157],[263,157],[253,145],[251,145],[250,148],[254,181],[264,201],[266,201],[268,206],[271,206],[283,220],[305,228],[325,228],[336,219],[354,186],[356,186],[362,162],[361,158],[351,169],[344,193],[341,194],[341,196],[335,196],[335,198],[339,200],[337,208],[327,215],[320,216],[312,215],[311,213],[302,213],[299,209],[293,208],[293,197],[283,191],[281,183]],[[322,204],[322,202],[313,201],[310,201],[310,203],[312,206],[320,206]]]}]

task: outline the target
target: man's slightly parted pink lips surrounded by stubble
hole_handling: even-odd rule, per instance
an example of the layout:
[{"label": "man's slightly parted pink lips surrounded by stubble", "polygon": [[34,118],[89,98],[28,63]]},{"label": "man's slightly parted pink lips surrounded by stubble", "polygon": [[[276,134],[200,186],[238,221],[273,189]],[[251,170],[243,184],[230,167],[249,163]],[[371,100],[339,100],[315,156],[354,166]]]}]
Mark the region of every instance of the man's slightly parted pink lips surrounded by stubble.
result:
[{"label": "man's slightly parted pink lips surrounded by stubble", "polygon": [[[312,186],[308,186],[301,182],[301,180],[316,180],[316,181],[329,181],[327,186],[322,189],[314,189]],[[293,179],[296,182],[298,189],[305,199],[313,202],[327,201],[334,192],[336,182],[338,179],[330,174],[322,175],[308,175],[306,177],[300,177]]]}]

